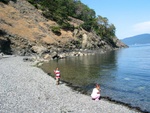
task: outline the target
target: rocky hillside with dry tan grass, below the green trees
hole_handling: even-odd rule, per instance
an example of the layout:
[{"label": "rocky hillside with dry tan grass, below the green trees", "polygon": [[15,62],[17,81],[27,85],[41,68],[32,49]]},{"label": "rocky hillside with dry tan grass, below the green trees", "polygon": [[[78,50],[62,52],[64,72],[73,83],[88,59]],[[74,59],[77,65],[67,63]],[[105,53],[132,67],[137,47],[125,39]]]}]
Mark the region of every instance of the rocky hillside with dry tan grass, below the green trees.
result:
[{"label": "rocky hillside with dry tan grass, below the green trees", "polygon": [[70,23],[76,29],[60,29],[56,34],[52,27],[57,27],[57,23],[43,17],[42,12],[26,0],[0,2],[0,52],[54,58],[60,57],[58,53],[126,47],[117,38],[106,41],[94,32],[85,31],[79,27],[81,20],[70,17]]}]

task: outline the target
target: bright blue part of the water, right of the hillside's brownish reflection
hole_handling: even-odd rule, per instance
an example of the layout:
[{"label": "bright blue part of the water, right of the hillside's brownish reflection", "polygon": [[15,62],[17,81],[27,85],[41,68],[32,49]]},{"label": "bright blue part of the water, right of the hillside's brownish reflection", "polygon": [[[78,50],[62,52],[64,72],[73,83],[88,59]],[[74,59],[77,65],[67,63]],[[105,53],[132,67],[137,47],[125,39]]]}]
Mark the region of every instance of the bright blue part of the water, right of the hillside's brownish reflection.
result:
[{"label": "bright blue part of the water, right of the hillside's brownish reflection", "polygon": [[[103,83],[106,76],[99,78],[107,88],[104,95],[150,112],[150,45],[116,51],[115,66],[111,65],[103,68],[107,83]],[[108,67],[113,68],[105,72]]]}]

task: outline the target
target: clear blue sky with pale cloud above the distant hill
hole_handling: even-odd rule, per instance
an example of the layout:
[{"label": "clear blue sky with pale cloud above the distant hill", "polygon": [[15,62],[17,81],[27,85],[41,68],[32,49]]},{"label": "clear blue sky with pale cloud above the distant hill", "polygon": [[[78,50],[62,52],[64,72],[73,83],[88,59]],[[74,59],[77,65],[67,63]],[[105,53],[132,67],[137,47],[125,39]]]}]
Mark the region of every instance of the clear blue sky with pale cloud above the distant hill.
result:
[{"label": "clear blue sky with pale cloud above the distant hill", "polygon": [[150,0],[80,0],[116,27],[118,39],[150,34]]}]

